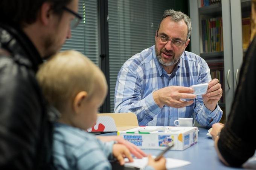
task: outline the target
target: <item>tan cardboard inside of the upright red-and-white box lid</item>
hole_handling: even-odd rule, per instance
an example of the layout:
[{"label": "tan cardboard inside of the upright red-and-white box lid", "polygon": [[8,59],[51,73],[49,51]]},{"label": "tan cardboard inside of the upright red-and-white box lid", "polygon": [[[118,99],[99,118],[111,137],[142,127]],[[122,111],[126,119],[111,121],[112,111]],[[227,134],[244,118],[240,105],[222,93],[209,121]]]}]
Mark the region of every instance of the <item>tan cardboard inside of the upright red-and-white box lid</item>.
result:
[{"label": "tan cardboard inside of the upright red-and-white box lid", "polygon": [[98,113],[98,116],[110,116],[116,126],[139,126],[137,116],[134,113]]}]

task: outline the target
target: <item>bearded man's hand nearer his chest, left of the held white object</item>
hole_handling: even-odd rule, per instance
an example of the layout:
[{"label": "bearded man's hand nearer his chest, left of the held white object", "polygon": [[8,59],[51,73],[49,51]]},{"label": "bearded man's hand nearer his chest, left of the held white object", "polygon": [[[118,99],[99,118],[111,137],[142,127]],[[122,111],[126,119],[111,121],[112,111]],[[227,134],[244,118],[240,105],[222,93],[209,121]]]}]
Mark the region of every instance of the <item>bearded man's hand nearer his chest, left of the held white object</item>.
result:
[{"label": "bearded man's hand nearer his chest, left of the held white object", "polygon": [[153,92],[155,103],[162,108],[164,105],[182,108],[191,105],[194,100],[183,101],[182,99],[194,99],[194,90],[183,86],[168,86]]}]

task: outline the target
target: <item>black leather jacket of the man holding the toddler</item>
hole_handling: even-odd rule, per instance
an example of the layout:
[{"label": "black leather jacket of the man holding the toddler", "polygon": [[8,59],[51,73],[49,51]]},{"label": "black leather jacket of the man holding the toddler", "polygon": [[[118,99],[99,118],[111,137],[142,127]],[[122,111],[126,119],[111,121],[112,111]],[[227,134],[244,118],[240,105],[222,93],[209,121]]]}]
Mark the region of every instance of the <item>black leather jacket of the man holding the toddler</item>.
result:
[{"label": "black leather jacket of the man holding the toddler", "polygon": [[40,54],[0,23],[0,169],[49,169],[52,125],[35,73]]}]

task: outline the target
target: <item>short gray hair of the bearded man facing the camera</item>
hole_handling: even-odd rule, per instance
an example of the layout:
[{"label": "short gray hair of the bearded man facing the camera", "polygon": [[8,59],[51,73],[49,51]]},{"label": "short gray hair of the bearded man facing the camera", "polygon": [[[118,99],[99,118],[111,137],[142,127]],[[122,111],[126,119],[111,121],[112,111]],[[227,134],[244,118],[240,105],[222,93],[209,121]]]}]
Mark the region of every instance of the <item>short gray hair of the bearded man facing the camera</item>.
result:
[{"label": "short gray hair of the bearded man facing the camera", "polygon": [[158,25],[158,28],[157,28],[157,32],[159,30],[160,24],[163,21],[163,19],[165,19],[168,16],[171,16],[172,20],[175,21],[175,22],[184,20],[184,22],[187,25],[187,39],[186,40],[188,40],[189,37],[191,36],[191,30],[192,30],[192,28],[191,28],[191,19],[189,18],[189,16],[187,16],[183,12],[175,11],[173,9],[165,10],[165,12],[163,13],[162,19],[159,22],[159,25]]}]

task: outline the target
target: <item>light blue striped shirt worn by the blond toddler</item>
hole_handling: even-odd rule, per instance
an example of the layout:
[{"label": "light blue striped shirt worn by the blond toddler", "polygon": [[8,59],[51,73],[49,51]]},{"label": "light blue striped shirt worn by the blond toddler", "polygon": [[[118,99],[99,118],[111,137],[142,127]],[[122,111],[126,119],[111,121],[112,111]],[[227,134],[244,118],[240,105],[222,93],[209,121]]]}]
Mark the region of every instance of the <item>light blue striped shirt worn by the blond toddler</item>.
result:
[{"label": "light blue striped shirt worn by the blond toddler", "polygon": [[113,159],[113,144],[79,128],[55,123],[53,164],[61,170],[111,170],[108,159]]}]

